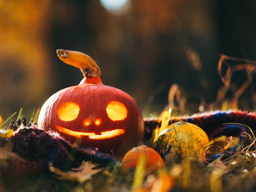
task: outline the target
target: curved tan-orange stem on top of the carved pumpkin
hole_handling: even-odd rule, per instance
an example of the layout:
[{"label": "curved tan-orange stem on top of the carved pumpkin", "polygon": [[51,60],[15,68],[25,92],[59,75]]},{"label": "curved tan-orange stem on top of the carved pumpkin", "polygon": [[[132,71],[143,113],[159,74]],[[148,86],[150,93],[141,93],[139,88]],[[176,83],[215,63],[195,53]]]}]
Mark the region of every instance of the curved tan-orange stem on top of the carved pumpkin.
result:
[{"label": "curved tan-orange stem on top of the carved pumpkin", "polygon": [[81,69],[84,77],[98,77],[101,75],[101,70],[90,56],[79,51],[65,49],[57,49],[56,52],[58,58],[64,63]]}]

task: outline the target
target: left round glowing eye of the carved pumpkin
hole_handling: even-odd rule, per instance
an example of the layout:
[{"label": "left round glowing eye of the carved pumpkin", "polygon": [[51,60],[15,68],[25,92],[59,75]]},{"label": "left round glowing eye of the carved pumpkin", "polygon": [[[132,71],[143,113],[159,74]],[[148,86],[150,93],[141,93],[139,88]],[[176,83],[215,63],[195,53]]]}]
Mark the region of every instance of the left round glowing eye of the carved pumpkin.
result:
[{"label": "left round glowing eye of the carved pumpkin", "polygon": [[58,118],[62,121],[73,121],[80,111],[78,104],[73,102],[62,103],[57,110]]}]

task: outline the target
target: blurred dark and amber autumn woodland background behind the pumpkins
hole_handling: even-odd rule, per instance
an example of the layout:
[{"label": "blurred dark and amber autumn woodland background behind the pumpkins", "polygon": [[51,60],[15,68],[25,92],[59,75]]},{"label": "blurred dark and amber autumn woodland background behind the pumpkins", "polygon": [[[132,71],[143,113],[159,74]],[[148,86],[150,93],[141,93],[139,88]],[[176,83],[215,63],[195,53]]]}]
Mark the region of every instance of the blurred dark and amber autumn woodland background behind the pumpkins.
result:
[{"label": "blurred dark and amber autumn woodland background behind the pumpkins", "polygon": [[[192,103],[201,96],[214,102],[222,85],[220,54],[256,60],[252,0],[130,0],[129,5],[115,15],[98,0],[0,0],[0,114],[6,118],[20,107],[29,113],[54,92],[79,83],[79,69],[59,61],[56,49],[90,55],[103,83],[128,92],[146,116],[161,112],[173,83],[196,95]],[[246,80],[245,71],[235,76],[235,85]],[[248,90],[242,96],[255,97],[254,80]],[[246,101],[244,109],[253,109]]]}]

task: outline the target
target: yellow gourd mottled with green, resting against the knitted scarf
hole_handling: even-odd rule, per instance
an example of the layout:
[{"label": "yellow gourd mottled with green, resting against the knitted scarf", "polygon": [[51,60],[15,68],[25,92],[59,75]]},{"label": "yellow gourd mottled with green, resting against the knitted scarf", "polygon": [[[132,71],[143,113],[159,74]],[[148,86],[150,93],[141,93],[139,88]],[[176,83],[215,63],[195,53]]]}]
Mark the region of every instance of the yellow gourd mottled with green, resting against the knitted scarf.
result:
[{"label": "yellow gourd mottled with green, resting against the knitted scarf", "polygon": [[204,145],[208,143],[209,138],[203,129],[192,123],[179,121],[169,125],[159,134],[157,151],[203,160]]}]

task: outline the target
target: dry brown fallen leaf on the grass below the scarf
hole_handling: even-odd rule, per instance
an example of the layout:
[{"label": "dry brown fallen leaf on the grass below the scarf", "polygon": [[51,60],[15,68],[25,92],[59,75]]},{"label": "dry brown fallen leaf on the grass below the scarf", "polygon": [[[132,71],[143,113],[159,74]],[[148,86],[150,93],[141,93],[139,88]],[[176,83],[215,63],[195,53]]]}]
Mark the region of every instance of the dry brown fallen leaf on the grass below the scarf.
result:
[{"label": "dry brown fallen leaf on the grass below the scarf", "polygon": [[63,172],[62,170],[50,167],[50,170],[56,174],[56,177],[61,180],[70,180],[83,183],[91,179],[91,176],[100,172],[101,169],[93,169],[97,165],[83,161],[78,168],[72,168],[71,171]]}]

